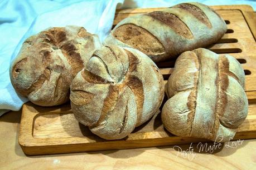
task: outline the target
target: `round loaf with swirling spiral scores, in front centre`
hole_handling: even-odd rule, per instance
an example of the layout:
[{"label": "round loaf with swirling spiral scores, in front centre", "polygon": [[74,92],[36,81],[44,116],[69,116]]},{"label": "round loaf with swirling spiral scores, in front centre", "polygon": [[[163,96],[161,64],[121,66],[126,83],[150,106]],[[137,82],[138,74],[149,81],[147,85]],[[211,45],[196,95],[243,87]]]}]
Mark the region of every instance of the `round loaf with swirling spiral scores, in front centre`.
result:
[{"label": "round loaf with swirling spiral scores, in front centre", "polygon": [[95,51],[70,86],[76,119],[104,139],[120,139],[148,121],[164,96],[156,64],[132,48]]}]

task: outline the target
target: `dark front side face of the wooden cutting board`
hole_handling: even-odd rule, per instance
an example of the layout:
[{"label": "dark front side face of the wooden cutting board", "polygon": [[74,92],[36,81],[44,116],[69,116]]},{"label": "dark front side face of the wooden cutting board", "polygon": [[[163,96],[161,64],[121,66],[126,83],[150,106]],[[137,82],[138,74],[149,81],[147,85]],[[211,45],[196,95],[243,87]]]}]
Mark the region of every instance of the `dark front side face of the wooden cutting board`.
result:
[{"label": "dark front side face of the wooden cutting board", "polygon": [[[249,133],[248,133],[249,134]],[[251,139],[256,138],[256,133],[250,134],[236,133],[233,140],[237,139]],[[230,140],[230,141],[233,141]],[[20,143],[22,151],[27,155],[38,154],[57,154],[57,153],[75,153],[75,152],[91,152],[91,151],[105,151],[113,149],[132,149],[132,148],[148,148],[148,147],[160,147],[160,146],[172,146],[175,144],[189,144],[189,143],[205,143],[210,142],[206,139],[198,141],[198,138],[182,138],[182,137],[166,137],[166,138],[154,138],[154,139],[140,139],[131,141],[105,141],[95,143],[75,143],[75,144],[57,144],[51,146],[26,146]]]}]

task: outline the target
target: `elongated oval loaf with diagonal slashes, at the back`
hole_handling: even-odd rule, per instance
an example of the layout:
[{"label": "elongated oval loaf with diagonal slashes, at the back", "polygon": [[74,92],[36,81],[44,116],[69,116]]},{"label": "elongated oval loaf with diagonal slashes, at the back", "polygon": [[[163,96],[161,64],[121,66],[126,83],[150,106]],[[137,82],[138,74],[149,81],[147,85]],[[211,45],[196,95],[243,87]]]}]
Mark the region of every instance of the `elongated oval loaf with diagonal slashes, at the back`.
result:
[{"label": "elongated oval loaf with diagonal slashes, at the back", "polygon": [[159,62],[209,46],[226,29],[225,21],[213,9],[201,3],[181,3],[123,19],[104,43],[139,49]]}]

